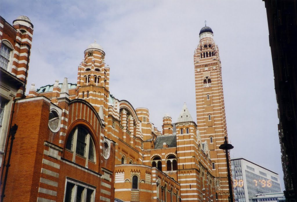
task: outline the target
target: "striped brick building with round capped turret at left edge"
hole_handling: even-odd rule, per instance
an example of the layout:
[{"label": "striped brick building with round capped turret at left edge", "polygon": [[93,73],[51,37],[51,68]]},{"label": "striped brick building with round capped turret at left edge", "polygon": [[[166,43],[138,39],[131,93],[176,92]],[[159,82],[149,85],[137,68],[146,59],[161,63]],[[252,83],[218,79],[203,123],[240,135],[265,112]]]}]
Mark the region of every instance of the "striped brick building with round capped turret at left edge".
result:
[{"label": "striped brick building with round capped turret at left edge", "polygon": [[0,121],[0,162],[7,146],[13,101],[23,98],[26,91],[32,37],[33,25],[28,17],[20,16],[11,25],[0,16],[0,101],[1,108],[3,107]]}]

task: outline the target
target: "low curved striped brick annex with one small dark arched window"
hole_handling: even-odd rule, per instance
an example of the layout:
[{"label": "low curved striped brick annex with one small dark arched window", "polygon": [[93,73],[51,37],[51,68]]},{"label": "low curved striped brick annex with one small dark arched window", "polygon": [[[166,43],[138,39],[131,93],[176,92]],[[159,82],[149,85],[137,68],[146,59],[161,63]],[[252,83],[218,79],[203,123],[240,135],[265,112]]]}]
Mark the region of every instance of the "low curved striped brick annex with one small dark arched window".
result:
[{"label": "low curved striped brick annex with one small dark arched window", "polygon": [[[137,187],[132,189],[132,178],[137,176]],[[145,165],[116,165],[115,197],[123,201],[178,202],[180,186],[156,168]]]}]

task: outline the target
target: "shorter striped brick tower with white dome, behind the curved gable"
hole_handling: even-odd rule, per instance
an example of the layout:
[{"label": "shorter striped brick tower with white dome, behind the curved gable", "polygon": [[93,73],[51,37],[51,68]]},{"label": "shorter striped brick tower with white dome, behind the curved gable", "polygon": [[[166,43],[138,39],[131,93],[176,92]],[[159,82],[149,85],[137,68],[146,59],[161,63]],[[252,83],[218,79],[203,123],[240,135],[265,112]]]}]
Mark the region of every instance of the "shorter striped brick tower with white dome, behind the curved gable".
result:
[{"label": "shorter striped brick tower with white dome, behind the curved gable", "polygon": [[88,101],[107,122],[109,67],[105,67],[105,52],[95,40],[84,54],[85,58],[78,66],[76,98]]}]

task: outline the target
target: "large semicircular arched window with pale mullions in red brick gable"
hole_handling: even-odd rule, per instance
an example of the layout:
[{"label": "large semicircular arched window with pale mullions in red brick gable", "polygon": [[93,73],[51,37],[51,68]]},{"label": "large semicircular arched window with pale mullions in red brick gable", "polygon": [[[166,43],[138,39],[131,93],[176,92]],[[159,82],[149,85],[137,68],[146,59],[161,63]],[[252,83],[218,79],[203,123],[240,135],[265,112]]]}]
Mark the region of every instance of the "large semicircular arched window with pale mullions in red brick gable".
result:
[{"label": "large semicircular arched window with pale mullions in red brick gable", "polygon": [[[75,143],[76,144],[73,144]],[[69,134],[66,148],[73,151],[74,158],[75,154],[86,157],[87,160],[95,161],[95,147],[91,138],[90,132],[82,127],[75,127]]]}]

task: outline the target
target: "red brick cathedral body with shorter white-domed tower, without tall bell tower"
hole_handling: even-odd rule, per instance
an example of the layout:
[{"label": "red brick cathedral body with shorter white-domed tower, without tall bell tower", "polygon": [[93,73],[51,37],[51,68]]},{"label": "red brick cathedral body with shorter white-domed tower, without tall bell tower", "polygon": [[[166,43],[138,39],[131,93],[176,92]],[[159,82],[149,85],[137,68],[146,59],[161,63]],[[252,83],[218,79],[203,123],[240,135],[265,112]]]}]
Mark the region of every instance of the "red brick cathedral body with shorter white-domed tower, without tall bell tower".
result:
[{"label": "red brick cathedral body with shorter white-domed tower, without tall bell tower", "polygon": [[77,84],[32,85],[16,100],[4,201],[216,200],[220,176],[200,119],[184,104],[176,123],[165,114],[160,132],[148,109],[110,95],[104,57],[92,43]]}]

